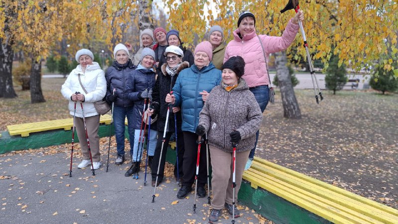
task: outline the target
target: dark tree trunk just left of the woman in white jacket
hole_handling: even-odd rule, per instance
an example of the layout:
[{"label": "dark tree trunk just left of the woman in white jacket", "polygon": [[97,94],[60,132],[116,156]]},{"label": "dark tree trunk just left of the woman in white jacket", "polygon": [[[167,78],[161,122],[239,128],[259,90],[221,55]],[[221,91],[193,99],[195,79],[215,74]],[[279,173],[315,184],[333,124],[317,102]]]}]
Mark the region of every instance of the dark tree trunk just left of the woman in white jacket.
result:
[{"label": "dark tree trunk just left of the woman in white jacket", "polygon": [[41,62],[32,59],[32,73],[30,74],[30,103],[42,103],[44,100],[41,90]]}]

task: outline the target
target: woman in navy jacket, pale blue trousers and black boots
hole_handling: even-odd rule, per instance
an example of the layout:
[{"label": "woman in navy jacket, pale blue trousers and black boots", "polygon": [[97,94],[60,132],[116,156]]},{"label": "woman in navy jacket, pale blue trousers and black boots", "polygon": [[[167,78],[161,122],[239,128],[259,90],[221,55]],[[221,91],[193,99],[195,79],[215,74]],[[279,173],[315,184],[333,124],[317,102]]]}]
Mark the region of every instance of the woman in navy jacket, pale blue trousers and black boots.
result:
[{"label": "woman in navy jacket, pale blue trousers and black boots", "polygon": [[[133,154],[131,155],[131,162],[133,164],[124,174],[126,177],[131,176],[134,173],[138,173],[139,171],[140,161],[142,159],[142,151],[140,152],[140,149],[138,148],[140,133],[141,140],[144,137],[144,131],[141,131],[142,112],[144,110],[145,99],[148,100],[152,98],[152,89],[156,82],[156,73],[153,68],[153,65],[155,64],[155,52],[152,49],[145,47],[141,52],[140,61],[141,63],[134,71],[133,76],[128,79],[126,86],[127,99],[134,102],[134,147]],[[145,107],[147,108],[148,105],[145,105]],[[144,125],[145,124],[142,126],[142,130],[144,129]],[[155,154],[157,135],[158,132],[156,128],[152,129],[151,126],[149,147],[147,149],[148,156],[153,156]]]}]

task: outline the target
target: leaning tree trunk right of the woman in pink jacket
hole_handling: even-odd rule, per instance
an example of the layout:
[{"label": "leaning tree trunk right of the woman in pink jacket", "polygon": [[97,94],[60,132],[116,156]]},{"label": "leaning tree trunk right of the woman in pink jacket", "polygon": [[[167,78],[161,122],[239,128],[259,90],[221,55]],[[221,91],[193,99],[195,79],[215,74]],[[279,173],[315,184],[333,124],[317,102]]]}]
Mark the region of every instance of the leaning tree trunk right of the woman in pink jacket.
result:
[{"label": "leaning tree trunk right of the woman in pink jacket", "polygon": [[281,88],[283,115],[286,118],[300,119],[301,112],[298,107],[289,70],[286,66],[287,62],[288,58],[286,57],[285,51],[276,53],[275,63],[277,67],[278,83]]}]

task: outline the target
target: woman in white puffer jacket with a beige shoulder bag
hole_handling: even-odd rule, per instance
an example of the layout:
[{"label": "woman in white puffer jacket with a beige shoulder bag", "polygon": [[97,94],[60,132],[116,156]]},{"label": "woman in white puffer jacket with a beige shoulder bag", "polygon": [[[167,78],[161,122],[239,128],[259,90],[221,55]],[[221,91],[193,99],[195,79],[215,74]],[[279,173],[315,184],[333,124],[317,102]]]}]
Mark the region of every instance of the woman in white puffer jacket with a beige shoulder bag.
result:
[{"label": "woman in white puffer jacket with a beige shoulder bag", "polygon": [[[105,96],[105,74],[101,70],[100,65],[97,62],[93,62],[94,55],[90,50],[79,50],[76,52],[75,58],[76,61],[79,62],[79,65],[69,74],[65,83],[62,85],[61,93],[67,100],[69,100],[69,111],[71,115],[74,115],[75,102],[77,103],[75,128],[83,154],[83,160],[78,165],[78,168],[80,169],[89,165],[91,166],[90,153],[88,150],[86,131],[83,122],[83,112],[80,106],[80,102],[83,102],[87,133],[89,135],[90,149],[93,157],[93,166],[96,170],[101,166],[100,136],[98,135],[100,114],[96,111],[93,103],[102,100]],[[82,81],[82,85],[86,89],[87,94],[79,82],[79,74],[80,80]],[[78,92],[78,94],[76,94],[76,92]]]}]

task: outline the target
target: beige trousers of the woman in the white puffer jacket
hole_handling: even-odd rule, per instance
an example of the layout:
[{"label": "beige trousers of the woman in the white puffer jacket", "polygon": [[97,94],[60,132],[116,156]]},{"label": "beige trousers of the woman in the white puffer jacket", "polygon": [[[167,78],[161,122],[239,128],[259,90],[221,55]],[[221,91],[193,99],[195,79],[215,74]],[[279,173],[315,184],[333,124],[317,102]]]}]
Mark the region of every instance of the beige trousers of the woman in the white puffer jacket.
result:
[{"label": "beige trousers of the woman in the white puffer jacket", "polygon": [[[85,118],[93,162],[100,162],[100,136],[98,135],[98,128],[100,127],[100,115],[89,116]],[[84,128],[84,121],[82,117],[76,117],[75,126],[76,131],[78,132],[80,147],[82,148],[83,159],[90,160],[86,130]]]}]

